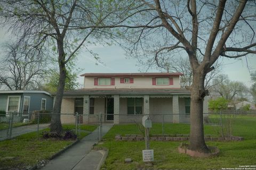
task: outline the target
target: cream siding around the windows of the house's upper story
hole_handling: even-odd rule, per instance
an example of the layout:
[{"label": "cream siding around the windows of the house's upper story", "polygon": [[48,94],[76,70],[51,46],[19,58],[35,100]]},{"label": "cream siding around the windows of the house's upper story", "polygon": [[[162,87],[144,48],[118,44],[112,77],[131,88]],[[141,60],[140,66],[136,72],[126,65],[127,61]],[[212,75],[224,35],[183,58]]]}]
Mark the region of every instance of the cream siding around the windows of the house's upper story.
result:
[{"label": "cream siding around the windows of the house's upper story", "polygon": [[84,78],[84,88],[180,88],[179,77],[173,77],[173,85],[156,86],[152,85],[153,77],[134,77],[134,83],[120,83],[120,78],[115,78],[115,86],[94,86],[94,78]]}]

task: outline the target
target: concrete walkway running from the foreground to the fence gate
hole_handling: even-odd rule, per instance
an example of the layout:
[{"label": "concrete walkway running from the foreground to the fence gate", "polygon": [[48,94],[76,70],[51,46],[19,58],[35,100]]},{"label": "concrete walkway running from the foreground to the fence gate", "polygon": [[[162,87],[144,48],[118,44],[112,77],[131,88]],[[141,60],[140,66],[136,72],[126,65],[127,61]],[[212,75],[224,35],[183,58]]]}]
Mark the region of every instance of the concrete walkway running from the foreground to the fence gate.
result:
[{"label": "concrete walkway running from the foreground to the fence gate", "polygon": [[[113,124],[102,124],[102,136],[105,135]],[[93,145],[97,143],[97,131],[84,137],[74,146],[68,148],[61,155],[50,160],[42,169],[43,170],[93,170],[99,169],[102,163],[104,151],[91,150]]]}]

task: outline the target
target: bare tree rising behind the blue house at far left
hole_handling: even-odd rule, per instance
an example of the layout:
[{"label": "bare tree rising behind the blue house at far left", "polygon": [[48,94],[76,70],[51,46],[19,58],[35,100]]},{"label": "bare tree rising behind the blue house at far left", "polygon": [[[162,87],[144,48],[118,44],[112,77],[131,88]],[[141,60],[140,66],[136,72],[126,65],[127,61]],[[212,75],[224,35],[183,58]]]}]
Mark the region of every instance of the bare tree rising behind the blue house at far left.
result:
[{"label": "bare tree rising behind the blue house at far left", "polygon": [[37,89],[46,71],[41,53],[24,43],[9,43],[4,49],[0,58],[0,84],[9,90]]}]

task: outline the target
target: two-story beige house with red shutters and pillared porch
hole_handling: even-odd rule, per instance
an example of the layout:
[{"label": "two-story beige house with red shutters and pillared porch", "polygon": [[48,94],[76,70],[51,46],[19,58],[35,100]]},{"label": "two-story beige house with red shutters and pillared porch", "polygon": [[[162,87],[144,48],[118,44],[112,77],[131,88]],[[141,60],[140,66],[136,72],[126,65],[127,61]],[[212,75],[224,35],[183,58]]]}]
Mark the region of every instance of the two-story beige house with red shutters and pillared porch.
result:
[{"label": "two-story beige house with red shutters and pillared porch", "polygon": [[[85,73],[84,88],[65,91],[61,122],[129,123],[150,115],[154,122],[189,122],[190,91],[180,88],[181,73]],[[204,113],[208,113],[207,101]],[[66,114],[66,115],[65,115]]]}]

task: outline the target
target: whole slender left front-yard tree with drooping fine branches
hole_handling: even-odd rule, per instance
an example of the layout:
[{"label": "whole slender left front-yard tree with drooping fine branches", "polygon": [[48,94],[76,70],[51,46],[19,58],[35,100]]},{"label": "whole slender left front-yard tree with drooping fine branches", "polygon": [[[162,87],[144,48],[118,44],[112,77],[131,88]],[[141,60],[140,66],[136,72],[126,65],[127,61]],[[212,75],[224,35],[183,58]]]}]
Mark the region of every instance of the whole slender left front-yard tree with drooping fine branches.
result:
[{"label": "whole slender left front-yard tree with drooping fine branches", "polygon": [[[20,40],[31,47],[49,52],[58,59],[59,86],[53,107],[51,131],[62,131],[61,101],[67,77],[66,64],[78,49],[91,41],[106,36],[106,24],[114,25],[118,16],[125,15],[133,6],[126,1],[79,0],[3,0],[0,2],[0,22]],[[87,27],[87,28],[85,28]]]}]

